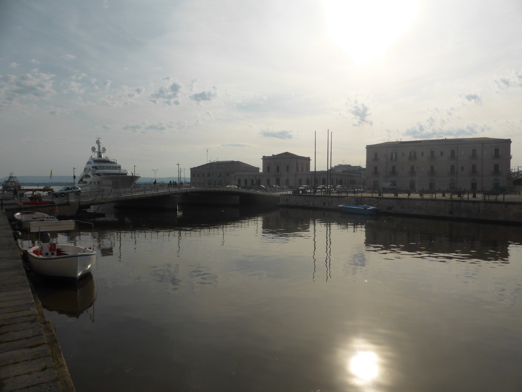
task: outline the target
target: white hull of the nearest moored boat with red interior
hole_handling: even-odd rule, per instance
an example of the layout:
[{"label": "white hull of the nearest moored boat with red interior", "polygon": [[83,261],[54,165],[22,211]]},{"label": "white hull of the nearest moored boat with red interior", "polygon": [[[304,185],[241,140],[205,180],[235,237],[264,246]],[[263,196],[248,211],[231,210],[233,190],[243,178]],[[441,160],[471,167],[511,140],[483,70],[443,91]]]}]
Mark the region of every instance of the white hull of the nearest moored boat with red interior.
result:
[{"label": "white hull of the nearest moored boat with red interior", "polygon": [[32,271],[41,275],[79,279],[96,264],[96,251],[76,245],[56,245],[53,251],[43,244],[27,250],[27,262]]}]

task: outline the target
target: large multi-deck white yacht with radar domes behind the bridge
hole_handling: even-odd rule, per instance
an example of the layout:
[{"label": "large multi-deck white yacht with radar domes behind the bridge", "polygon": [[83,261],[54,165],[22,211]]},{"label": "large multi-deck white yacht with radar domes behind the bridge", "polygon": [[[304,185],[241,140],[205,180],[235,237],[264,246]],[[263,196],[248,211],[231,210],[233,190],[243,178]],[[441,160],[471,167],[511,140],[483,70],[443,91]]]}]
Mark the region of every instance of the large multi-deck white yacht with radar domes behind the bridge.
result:
[{"label": "large multi-deck white yacht with radar domes behind the bridge", "polygon": [[140,176],[129,174],[123,169],[116,159],[111,159],[105,154],[105,147],[101,147],[100,138],[96,141],[97,147],[91,148],[91,157],[80,175],[77,185],[82,190],[112,189],[120,187],[132,187]]}]

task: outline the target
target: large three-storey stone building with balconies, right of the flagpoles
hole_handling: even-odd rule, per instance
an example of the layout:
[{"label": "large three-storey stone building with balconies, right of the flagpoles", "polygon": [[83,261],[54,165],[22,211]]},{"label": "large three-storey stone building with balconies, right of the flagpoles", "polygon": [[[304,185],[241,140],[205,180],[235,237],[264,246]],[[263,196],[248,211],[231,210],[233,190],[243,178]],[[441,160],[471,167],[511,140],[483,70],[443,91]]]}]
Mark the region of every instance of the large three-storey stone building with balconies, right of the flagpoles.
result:
[{"label": "large three-storey stone building with balconies, right of the flagpoles", "polygon": [[372,144],[366,146],[366,184],[371,189],[393,184],[412,191],[510,189],[510,163],[511,139]]}]

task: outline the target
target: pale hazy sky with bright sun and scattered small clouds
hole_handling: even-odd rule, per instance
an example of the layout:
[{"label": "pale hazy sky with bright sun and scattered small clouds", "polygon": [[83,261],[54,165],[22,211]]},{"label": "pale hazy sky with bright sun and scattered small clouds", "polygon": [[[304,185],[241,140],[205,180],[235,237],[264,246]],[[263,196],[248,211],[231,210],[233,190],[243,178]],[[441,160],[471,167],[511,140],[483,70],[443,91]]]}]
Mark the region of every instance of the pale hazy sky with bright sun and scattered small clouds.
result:
[{"label": "pale hazy sky with bright sun and scattered small clouds", "polygon": [[[143,177],[499,137],[522,166],[520,0],[0,0],[0,177]],[[316,160],[314,160],[316,156]],[[179,164],[179,165],[178,165]]]}]

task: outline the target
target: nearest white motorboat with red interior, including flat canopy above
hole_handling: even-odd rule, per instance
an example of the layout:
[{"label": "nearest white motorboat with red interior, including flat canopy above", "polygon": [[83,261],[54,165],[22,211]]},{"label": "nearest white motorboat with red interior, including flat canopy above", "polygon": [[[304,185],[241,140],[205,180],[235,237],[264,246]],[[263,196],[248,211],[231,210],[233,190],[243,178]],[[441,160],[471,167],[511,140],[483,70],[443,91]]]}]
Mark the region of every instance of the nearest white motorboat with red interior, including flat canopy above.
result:
[{"label": "nearest white motorboat with red interior, including flat canopy above", "polygon": [[41,232],[42,229],[61,231],[75,227],[75,221],[60,222],[59,228],[43,222],[29,225],[31,232],[41,233],[41,243],[27,249],[27,262],[32,271],[41,275],[79,279],[96,265],[96,251],[92,247],[57,244],[50,240],[48,233]]}]

